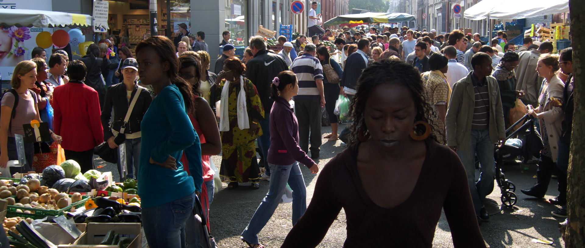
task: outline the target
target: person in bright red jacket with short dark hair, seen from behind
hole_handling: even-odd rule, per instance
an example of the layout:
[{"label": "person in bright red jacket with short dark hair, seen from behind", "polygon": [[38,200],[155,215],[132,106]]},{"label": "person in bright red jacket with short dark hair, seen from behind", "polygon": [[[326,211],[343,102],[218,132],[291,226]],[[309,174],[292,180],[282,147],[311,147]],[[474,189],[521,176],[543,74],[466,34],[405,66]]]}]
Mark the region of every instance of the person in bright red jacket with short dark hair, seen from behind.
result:
[{"label": "person in bright red jacket with short dark hair, seen from behind", "polygon": [[94,147],[104,142],[98,92],[83,83],[87,68],[81,61],[67,66],[69,83],[53,91],[53,126],[63,137],[67,160],[75,160],[85,172],[94,169]]}]

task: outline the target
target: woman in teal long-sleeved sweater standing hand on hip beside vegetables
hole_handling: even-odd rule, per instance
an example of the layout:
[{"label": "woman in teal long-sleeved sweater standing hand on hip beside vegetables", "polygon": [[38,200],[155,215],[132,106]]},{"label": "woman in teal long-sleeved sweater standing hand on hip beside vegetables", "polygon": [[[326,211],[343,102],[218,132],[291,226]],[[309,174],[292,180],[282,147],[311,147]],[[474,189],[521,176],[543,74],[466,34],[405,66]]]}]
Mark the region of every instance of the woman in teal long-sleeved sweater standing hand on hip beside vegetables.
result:
[{"label": "woman in teal long-sleeved sweater standing hand on hip beside vegetables", "polygon": [[[185,247],[185,222],[203,182],[199,138],[186,112],[193,107],[191,86],[178,76],[177,56],[168,38],[140,42],[136,56],[140,80],[156,95],[140,125],[137,179],[144,233],[151,248]],[[183,150],[192,175],[199,176],[192,178],[184,171],[179,161]]]}]

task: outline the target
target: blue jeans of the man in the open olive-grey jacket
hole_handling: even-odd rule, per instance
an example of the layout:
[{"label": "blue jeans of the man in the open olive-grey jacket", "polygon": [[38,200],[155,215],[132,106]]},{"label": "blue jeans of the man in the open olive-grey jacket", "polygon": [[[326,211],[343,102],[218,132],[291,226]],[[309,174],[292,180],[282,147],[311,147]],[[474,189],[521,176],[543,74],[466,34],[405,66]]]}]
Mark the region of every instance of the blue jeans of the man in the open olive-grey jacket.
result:
[{"label": "blue jeans of the man in the open olive-grey jacket", "polygon": [[[476,183],[475,155],[479,158],[480,176]],[[479,215],[484,207],[486,196],[494,190],[494,142],[490,140],[489,130],[472,130],[467,150],[457,150],[465,171],[469,190],[472,193],[473,206]]]}]

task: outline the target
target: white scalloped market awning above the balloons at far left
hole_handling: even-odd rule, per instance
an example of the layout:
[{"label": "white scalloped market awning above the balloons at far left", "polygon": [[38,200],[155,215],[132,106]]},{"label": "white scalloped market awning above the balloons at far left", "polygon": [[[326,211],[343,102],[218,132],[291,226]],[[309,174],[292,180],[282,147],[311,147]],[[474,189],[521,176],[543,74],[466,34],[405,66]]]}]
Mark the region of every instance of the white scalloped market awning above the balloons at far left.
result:
[{"label": "white scalloped market awning above the balloons at far left", "polygon": [[89,27],[93,17],[57,11],[0,9],[0,26],[16,27]]}]

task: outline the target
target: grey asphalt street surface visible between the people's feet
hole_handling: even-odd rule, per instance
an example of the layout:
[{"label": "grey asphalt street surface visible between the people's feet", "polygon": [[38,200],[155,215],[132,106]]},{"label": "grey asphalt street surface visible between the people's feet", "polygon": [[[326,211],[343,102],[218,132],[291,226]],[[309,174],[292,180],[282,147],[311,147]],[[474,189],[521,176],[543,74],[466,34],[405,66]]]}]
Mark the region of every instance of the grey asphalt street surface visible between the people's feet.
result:
[{"label": "grey asphalt street surface visible between the people's feet", "polygon": [[[342,130],[344,126],[339,125],[339,130]],[[322,133],[331,133],[331,127],[322,127]],[[345,144],[342,144],[340,140],[333,142],[323,139],[321,160],[318,162],[319,168],[322,169],[331,158],[343,149],[345,149]],[[212,160],[219,168],[221,155],[213,156]],[[98,168],[99,171],[112,171],[113,177],[116,182],[118,181],[119,176],[115,165],[104,162],[97,157],[95,161],[96,166],[104,166]],[[548,204],[544,199],[535,199],[520,192],[520,189],[528,189],[536,181],[533,176],[536,175],[537,166],[535,164],[527,166],[528,171],[524,170],[524,165],[504,166],[506,178],[514,182],[517,187],[518,203],[514,207],[500,207],[501,193],[494,183],[494,191],[488,196],[486,203],[491,217],[488,222],[483,222],[480,225],[487,247],[564,247],[557,225],[565,219],[556,218],[550,214],[551,211],[556,210],[556,207]],[[305,185],[307,185],[308,204],[319,174],[311,174],[305,166],[301,166],[301,170]],[[212,235],[219,247],[247,247],[239,239],[239,235],[246,228],[260,201],[266,196],[269,182],[262,180],[259,190],[250,189],[249,183],[240,184],[240,187],[235,190],[226,190],[226,186],[227,184],[223,183],[223,188],[215,194],[209,211]],[[558,194],[556,186],[556,179],[552,179],[546,199],[553,198]],[[280,247],[290,231],[292,227],[291,206],[291,203],[280,204],[268,224],[259,233],[260,242],[266,247]],[[346,236],[345,228],[345,212],[342,210],[319,247],[342,247]],[[533,239],[549,240],[554,243],[545,245],[532,242]],[[391,240],[389,240],[388,247],[391,247]],[[433,247],[453,247],[449,224],[444,215],[437,225]]]}]

